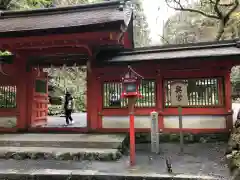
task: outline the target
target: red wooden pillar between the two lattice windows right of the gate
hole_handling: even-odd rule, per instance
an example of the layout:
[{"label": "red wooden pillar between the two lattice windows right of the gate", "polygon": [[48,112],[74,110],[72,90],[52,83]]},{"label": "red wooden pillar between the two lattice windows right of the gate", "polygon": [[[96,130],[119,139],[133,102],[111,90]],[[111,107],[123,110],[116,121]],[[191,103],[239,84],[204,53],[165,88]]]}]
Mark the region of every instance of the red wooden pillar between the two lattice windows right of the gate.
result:
[{"label": "red wooden pillar between the two lattice windows right of the gate", "polygon": [[164,128],[164,124],[163,124],[163,104],[164,104],[164,91],[163,91],[163,77],[160,74],[160,71],[157,72],[157,88],[156,88],[156,102],[157,102],[157,111],[159,113],[158,116],[158,127],[160,132],[163,130]]}]

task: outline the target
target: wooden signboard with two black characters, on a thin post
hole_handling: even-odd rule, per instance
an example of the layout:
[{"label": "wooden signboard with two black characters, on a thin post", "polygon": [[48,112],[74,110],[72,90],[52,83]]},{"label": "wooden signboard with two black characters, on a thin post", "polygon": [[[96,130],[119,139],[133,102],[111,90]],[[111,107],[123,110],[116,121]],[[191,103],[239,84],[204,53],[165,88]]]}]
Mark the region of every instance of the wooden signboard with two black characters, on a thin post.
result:
[{"label": "wooden signboard with two black characters, on a thin post", "polygon": [[173,81],[171,83],[171,105],[187,106],[187,83],[184,81]]}]

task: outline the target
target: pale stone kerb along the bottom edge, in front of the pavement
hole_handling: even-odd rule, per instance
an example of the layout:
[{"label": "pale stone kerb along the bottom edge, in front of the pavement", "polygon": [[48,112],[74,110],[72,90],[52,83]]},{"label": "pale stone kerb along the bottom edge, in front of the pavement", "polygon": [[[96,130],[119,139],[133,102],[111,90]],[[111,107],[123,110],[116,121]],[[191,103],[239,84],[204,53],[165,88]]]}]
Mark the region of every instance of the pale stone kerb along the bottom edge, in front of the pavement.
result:
[{"label": "pale stone kerb along the bottom edge, in front of the pavement", "polygon": [[16,179],[38,179],[38,180],[66,180],[66,179],[88,179],[88,180],[133,180],[133,179],[145,179],[145,180],[218,180],[225,178],[218,178],[213,176],[201,176],[190,174],[160,174],[155,172],[138,172],[131,173],[127,171],[123,172],[101,172],[97,170],[79,169],[0,169],[0,178],[8,180]]}]

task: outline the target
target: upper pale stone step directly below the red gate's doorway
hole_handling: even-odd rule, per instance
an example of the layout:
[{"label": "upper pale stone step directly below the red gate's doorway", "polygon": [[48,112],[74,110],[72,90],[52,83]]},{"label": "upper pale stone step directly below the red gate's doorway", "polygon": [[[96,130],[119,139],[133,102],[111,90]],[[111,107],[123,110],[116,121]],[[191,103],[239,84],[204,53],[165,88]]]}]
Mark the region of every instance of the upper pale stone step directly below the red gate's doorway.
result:
[{"label": "upper pale stone step directly below the red gate's doorway", "polygon": [[4,134],[0,147],[122,149],[124,134]]}]

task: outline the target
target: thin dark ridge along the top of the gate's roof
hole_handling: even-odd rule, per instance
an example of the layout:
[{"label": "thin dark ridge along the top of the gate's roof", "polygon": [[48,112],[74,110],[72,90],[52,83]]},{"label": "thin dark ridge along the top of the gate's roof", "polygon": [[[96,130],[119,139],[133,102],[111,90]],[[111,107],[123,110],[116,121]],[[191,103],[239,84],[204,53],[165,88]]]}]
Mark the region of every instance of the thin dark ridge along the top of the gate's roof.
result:
[{"label": "thin dark ridge along the top of the gate's roof", "polygon": [[2,11],[0,18],[18,18],[19,16],[36,16],[36,15],[45,15],[45,14],[57,14],[57,13],[66,13],[66,12],[76,12],[76,11],[91,11],[99,8],[116,8],[119,7],[122,3],[125,4],[126,0],[114,0],[100,3],[92,4],[81,4],[74,6],[64,6],[64,7],[50,7],[50,8],[41,8],[41,9],[32,9],[32,10],[18,10],[18,11]]}]

